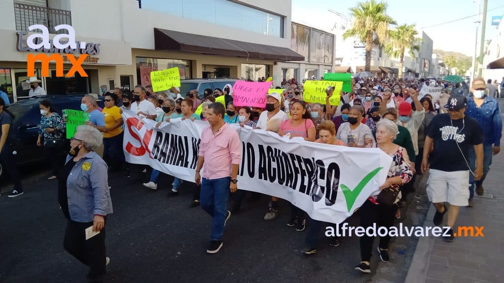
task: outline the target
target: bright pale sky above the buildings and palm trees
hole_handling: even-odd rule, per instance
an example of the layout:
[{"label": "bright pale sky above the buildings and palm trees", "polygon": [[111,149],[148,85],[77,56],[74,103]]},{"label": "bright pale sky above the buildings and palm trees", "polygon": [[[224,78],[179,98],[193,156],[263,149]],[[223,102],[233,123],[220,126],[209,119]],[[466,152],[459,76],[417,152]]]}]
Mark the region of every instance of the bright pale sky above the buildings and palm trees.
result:
[{"label": "bright pale sky above the buildings and palm trees", "polygon": [[[330,31],[337,16],[328,9],[350,17],[349,8],[357,6],[357,0],[292,0],[292,21],[308,24],[314,28]],[[478,13],[477,0],[385,0],[388,4],[387,14],[397,24],[415,24],[433,41],[434,49],[455,51],[474,55],[477,17],[469,17],[453,23],[430,27],[437,24],[465,18]],[[496,8],[496,9],[495,9]],[[493,10],[492,10],[493,9]],[[483,0],[481,0],[481,11]],[[504,1],[488,0],[486,15],[485,40],[495,37],[496,26],[491,26],[492,16],[504,15]],[[481,34],[478,31],[478,38]],[[478,52],[480,41],[478,39]]]}]

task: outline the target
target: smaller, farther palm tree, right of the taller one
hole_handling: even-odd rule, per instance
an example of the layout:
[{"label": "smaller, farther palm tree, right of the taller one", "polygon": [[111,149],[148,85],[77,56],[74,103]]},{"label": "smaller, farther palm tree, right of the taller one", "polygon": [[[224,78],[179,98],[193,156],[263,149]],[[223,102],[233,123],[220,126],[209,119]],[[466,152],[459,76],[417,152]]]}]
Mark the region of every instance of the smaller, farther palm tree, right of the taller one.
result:
[{"label": "smaller, farther palm tree, right of the taller one", "polygon": [[411,58],[415,57],[415,51],[420,52],[421,39],[416,35],[418,32],[415,30],[415,25],[404,24],[389,31],[390,41],[385,44],[385,53],[390,57],[399,58],[399,78],[403,77],[406,49],[408,49]]}]

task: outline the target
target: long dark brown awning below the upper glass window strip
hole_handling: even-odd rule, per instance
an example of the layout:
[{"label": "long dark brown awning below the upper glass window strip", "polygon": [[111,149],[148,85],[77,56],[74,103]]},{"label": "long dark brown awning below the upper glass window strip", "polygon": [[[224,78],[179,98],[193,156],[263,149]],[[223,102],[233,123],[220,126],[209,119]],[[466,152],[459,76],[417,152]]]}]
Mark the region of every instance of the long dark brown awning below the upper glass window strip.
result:
[{"label": "long dark brown awning below the upper glass window strip", "polygon": [[196,52],[275,61],[304,61],[304,56],[286,47],[250,43],[206,35],[154,28],[156,50]]}]

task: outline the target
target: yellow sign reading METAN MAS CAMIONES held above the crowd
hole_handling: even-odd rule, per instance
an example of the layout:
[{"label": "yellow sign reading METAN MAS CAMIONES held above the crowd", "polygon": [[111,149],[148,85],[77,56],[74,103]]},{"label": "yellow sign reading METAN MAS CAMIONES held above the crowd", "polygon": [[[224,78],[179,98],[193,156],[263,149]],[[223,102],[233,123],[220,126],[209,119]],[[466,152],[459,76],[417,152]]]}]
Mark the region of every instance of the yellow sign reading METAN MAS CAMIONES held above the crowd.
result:
[{"label": "yellow sign reading METAN MAS CAMIONES held above the crowd", "polygon": [[304,102],[308,103],[321,103],[326,104],[326,89],[329,86],[333,86],[334,92],[333,96],[329,99],[329,104],[339,105],[340,104],[340,92],[343,87],[343,82],[335,81],[306,81],[303,85],[303,99]]}]

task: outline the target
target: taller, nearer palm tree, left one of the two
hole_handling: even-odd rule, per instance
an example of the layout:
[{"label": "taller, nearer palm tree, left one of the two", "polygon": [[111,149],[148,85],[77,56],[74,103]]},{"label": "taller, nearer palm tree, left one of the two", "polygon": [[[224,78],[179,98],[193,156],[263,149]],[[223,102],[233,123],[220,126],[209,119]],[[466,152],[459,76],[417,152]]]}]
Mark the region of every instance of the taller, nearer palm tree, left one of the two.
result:
[{"label": "taller, nearer palm tree, left one of the two", "polygon": [[343,38],[356,36],[366,43],[365,70],[369,72],[373,43],[384,44],[388,39],[389,25],[396,24],[396,21],[386,14],[387,4],[375,0],[361,2],[350,11],[354,18],[353,25],[343,34]]}]

